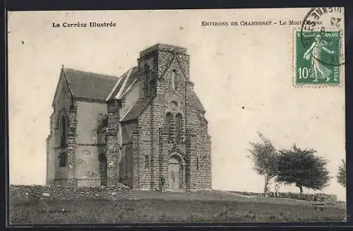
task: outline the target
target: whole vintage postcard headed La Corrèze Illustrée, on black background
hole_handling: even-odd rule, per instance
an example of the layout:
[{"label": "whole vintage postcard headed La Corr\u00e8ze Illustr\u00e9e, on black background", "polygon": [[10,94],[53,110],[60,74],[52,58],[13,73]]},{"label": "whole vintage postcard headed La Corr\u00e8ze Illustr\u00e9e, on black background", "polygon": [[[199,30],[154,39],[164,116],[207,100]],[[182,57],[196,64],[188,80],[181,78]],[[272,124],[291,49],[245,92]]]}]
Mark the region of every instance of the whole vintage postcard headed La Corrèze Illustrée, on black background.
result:
[{"label": "whole vintage postcard headed La Corr\u00e8ze Illustr\u00e9e, on black background", "polygon": [[344,8],[7,16],[8,225],[346,220]]}]

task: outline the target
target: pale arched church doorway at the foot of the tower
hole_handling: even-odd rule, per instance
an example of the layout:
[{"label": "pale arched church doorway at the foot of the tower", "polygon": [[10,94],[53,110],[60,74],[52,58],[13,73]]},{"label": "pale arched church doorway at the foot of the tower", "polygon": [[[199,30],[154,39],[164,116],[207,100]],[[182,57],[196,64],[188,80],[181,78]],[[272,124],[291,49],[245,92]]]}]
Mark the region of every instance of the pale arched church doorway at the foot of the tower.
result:
[{"label": "pale arched church doorway at the foot of the tower", "polygon": [[169,190],[180,191],[184,188],[184,161],[180,155],[174,154],[168,161]]}]

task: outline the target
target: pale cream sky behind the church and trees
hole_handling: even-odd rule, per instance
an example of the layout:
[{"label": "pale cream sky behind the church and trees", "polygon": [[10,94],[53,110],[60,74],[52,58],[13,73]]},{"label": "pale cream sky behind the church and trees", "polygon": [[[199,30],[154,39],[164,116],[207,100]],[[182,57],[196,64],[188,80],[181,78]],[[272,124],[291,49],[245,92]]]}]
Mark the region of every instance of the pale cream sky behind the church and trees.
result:
[{"label": "pale cream sky behind the church and trees", "polygon": [[[9,180],[45,183],[52,99],[61,65],[122,75],[139,51],[184,46],[191,81],[212,137],[213,189],[262,192],[249,142],[257,132],[277,149],[294,143],[328,159],[333,180],[323,192],[345,200],[338,165],[345,158],[345,89],[294,86],[298,26],[205,27],[202,21],[302,20],[307,8],[183,11],[37,11],[8,15]],[[52,23],[113,22],[116,27],[52,27]],[[344,24],[344,23],[342,23]],[[281,186],[282,192],[299,192]],[[304,192],[312,192],[305,189]]]}]

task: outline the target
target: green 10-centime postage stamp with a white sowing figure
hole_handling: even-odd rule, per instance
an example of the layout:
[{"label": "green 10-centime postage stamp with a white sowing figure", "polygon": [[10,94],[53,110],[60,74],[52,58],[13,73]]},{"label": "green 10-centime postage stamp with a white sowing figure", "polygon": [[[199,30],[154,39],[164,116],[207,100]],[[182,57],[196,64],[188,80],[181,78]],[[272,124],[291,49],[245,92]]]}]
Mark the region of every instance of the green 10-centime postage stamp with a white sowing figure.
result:
[{"label": "green 10-centime postage stamp with a white sowing figure", "polygon": [[296,85],[340,85],[340,39],[339,30],[296,32]]}]

